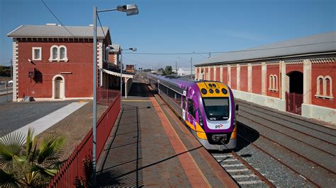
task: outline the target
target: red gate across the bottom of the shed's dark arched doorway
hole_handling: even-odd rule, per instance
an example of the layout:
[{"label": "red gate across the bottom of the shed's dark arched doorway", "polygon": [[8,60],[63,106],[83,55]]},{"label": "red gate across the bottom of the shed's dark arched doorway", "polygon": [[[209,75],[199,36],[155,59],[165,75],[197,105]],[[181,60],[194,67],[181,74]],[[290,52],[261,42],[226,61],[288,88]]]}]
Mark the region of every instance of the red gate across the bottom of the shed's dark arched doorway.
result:
[{"label": "red gate across the bottom of the shed's dark arched doorway", "polygon": [[286,111],[301,115],[301,105],[303,103],[303,95],[298,93],[286,92]]}]

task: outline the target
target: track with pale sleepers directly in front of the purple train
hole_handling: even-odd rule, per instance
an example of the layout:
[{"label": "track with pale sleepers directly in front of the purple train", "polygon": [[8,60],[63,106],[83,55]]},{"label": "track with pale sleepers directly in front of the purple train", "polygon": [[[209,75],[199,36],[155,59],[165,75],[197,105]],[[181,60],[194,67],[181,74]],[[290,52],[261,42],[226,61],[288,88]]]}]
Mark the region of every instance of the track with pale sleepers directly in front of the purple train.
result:
[{"label": "track with pale sleepers directly in front of the purple train", "polygon": [[276,187],[258,169],[252,167],[240,155],[231,153],[212,153],[213,157],[233,177],[240,187]]}]

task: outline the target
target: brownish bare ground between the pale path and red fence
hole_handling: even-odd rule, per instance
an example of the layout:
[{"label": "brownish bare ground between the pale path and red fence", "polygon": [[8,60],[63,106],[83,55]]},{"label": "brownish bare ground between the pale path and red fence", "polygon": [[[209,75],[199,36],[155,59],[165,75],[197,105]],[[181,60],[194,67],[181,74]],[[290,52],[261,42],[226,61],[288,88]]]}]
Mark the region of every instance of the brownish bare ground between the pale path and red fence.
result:
[{"label": "brownish bare ground between the pale path and red fence", "polygon": [[[106,106],[97,105],[97,121],[106,110]],[[69,114],[57,124],[45,130],[38,136],[38,140],[47,134],[57,134],[65,137],[64,153],[61,160],[65,160],[92,128],[92,102],[88,102],[79,110]]]}]

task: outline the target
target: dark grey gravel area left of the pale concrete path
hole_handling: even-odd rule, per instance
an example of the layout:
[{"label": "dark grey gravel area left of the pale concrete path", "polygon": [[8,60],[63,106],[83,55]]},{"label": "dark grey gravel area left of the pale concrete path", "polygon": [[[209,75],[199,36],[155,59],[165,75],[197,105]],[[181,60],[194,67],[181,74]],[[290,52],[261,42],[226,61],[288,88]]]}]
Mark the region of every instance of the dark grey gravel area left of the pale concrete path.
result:
[{"label": "dark grey gravel area left of the pale concrete path", "polygon": [[34,122],[55,110],[69,105],[62,102],[9,102],[0,105],[0,136]]}]

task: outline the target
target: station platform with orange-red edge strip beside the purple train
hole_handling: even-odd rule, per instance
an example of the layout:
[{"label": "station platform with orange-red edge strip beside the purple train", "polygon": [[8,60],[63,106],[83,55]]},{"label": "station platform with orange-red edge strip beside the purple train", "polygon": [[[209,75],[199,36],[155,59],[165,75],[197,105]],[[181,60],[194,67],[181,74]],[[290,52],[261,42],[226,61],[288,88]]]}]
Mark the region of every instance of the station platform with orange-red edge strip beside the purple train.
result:
[{"label": "station platform with orange-red edge strip beside the purple train", "polygon": [[152,90],[135,79],[97,163],[98,187],[238,187]]}]

